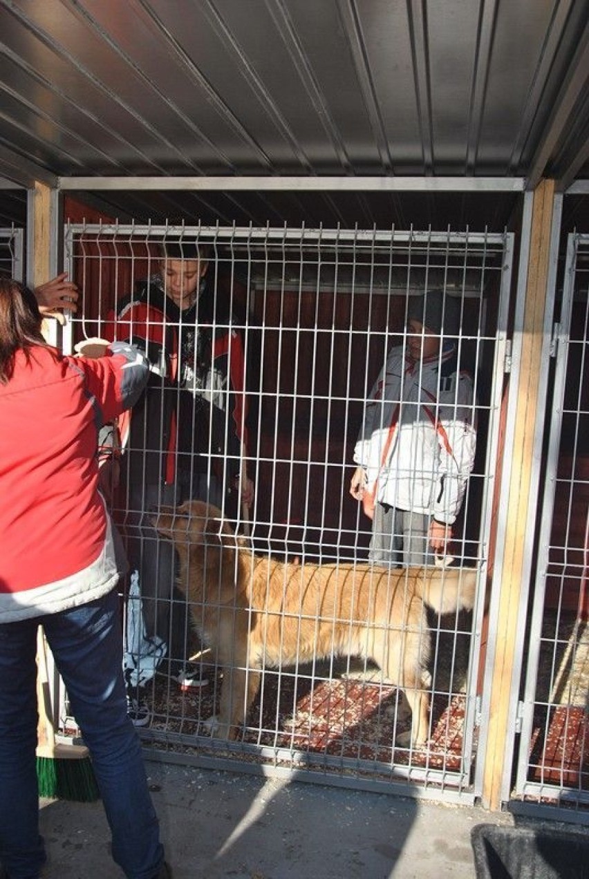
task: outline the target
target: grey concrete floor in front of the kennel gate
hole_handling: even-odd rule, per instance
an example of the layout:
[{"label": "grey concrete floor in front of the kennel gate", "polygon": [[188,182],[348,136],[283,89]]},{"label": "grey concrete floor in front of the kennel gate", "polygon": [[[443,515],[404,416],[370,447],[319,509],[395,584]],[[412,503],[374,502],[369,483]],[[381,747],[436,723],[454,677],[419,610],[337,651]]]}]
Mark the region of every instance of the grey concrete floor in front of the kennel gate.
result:
[{"label": "grey concrete floor in front of the kennel gate", "polygon": [[[507,814],[147,763],[174,879],[472,879],[471,828]],[[120,879],[101,803],[45,801],[44,879]]]}]

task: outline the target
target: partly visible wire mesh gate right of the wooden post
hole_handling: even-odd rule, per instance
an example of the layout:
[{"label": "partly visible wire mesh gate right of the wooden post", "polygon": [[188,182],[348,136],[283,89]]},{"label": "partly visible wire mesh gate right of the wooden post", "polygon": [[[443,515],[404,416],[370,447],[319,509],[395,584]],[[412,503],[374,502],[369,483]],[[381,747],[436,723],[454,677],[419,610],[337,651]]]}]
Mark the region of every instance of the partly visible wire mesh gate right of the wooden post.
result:
[{"label": "partly visible wire mesh gate right of the wooden post", "polygon": [[589,805],[588,260],[589,236],[569,236],[515,788],[579,815]]}]

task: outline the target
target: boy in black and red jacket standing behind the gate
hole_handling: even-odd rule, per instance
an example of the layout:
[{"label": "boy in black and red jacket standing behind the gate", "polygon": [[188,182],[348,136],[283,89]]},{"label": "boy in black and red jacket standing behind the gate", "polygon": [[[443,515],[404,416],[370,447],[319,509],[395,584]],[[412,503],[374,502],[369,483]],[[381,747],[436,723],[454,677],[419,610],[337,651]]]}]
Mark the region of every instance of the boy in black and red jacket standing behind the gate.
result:
[{"label": "boy in black and red jacket standing behind the gate", "polygon": [[126,654],[137,725],[149,723],[144,686],[158,665],[183,686],[206,683],[187,663],[186,602],[175,586],[174,550],[159,539],[149,513],[198,498],[236,519],[240,502],[251,505],[253,498],[244,473],[244,345],[208,269],[206,245],[166,238],[158,272],[138,283],[104,329],[106,338],[140,347],[152,369],[145,394],[119,419],[116,443],[123,450],[129,564],[142,606]]}]

